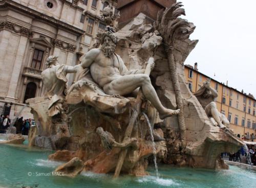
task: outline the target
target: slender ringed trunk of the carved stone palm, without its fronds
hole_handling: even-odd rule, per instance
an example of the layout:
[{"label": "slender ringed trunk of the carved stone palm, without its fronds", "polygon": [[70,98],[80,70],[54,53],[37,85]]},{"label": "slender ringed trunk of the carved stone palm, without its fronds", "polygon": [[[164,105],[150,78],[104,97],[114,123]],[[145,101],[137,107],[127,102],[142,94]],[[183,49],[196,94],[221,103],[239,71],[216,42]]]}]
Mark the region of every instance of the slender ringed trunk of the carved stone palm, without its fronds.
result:
[{"label": "slender ringed trunk of the carved stone palm, without its fronds", "polygon": [[180,127],[180,138],[181,140],[186,140],[186,126],[185,126],[185,120],[184,120],[184,105],[183,105],[183,97],[181,95],[180,91],[180,83],[178,79],[178,74],[176,72],[176,63],[174,59],[174,48],[171,45],[164,44],[164,50],[167,54],[168,58],[168,65],[169,65],[169,71],[170,76],[172,77],[174,91],[175,91],[175,98],[176,98],[176,104],[177,108],[180,109],[180,113],[178,114],[178,122]]}]

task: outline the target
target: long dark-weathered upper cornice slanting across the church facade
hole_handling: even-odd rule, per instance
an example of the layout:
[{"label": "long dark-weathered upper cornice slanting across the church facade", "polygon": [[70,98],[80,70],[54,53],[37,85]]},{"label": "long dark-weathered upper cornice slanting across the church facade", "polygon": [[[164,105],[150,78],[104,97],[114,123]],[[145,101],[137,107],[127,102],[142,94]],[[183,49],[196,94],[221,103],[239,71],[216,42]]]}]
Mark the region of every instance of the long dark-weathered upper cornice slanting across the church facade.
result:
[{"label": "long dark-weathered upper cornice slanting across the church facade", "polygon": [[51,17],[51,16],[48,16],[46,14],[40,13],[40,12],[38,12],[36,10],[33,10],[29,7],[26,7],[22,4],[16,3],[16,2],[11,1],[11,0],[2,0],[2,1],[0,1],[0,8],[6,8],[6,7],[12,7],[16,10],[19,10],[19,11],[22,11],[22,12],[28,14],[29,16],[39,18],[41,20],[45,20],[48,23],[51,23],[52,25],[55,25],[56,27],[69,30],[69,31],[71,31],[75,34],[78,34],[78,35],[82,35],[84,33],[84,31],[79,29],[79,28],[76,28],[72,25],[69,25],[68,23],[65,23],[63,21],[55,19],[54,17]]}]

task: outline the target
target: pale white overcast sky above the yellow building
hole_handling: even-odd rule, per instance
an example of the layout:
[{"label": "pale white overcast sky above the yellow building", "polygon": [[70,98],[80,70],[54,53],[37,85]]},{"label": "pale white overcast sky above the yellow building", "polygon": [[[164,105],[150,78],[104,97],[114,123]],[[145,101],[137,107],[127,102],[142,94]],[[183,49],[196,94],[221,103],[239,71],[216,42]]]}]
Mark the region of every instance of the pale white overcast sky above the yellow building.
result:
[{"label": "pale white overcast sky above the yellow building", "polygon": [[[178,2],[178,1],[177,1]],[[180,0],[199,39],[185,64],[256,98],[256,1]]]}]

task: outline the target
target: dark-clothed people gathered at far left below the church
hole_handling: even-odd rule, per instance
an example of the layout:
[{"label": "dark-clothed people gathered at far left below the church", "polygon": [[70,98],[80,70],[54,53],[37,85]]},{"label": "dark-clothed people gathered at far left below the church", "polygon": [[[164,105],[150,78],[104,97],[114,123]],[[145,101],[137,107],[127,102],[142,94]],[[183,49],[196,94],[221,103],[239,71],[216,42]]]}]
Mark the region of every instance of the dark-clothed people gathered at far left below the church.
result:
[{"label": "dark-clothed people gathered at far left below the church", "polygon": [[[11,120],[9,119],[9,115],[1,115],[0,116],[0,133],[6,133],[6,130],[11,125]],[[23,117],[18,118],[13,124],[16,127],[16,134],[28,135],[29,129],[32,126],[31,119],[23,120]]]}]

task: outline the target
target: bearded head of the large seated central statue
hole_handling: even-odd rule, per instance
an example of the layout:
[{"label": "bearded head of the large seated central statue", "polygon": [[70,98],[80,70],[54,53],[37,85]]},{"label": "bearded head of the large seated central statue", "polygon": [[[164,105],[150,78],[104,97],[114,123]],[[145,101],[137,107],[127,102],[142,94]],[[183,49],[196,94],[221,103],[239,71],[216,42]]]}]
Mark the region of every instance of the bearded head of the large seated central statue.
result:
[{"label": "bearded head of the large seated central statue", "polygon": [[102,33],[101,35],[101,50],[103,51],[105,57],[110,57],[112,54],[114,54],[117,44],[117,37],[107,31],[105,33]]}]

